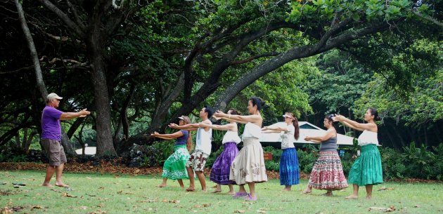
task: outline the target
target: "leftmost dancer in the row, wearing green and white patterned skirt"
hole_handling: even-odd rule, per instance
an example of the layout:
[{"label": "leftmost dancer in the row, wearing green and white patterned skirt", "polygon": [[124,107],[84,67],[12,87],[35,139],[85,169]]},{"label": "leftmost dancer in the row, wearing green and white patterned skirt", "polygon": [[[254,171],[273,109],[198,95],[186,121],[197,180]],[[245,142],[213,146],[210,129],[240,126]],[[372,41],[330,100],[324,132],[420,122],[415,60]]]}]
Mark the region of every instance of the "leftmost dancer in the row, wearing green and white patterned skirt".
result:
[{"label": "leftmost dancer in the row, wearing green and white patterned skirt", "polygon": [[[179,125],[183,126],[191,123],[188,116],[179,117]],[[163,182],[158,187],[166,187],[167,179],[177,180],[181,188],[184,188],[183,180],[188,177],[186,171],[186,161],[189,159],[189,151],[191,151],[192,141],[190,131],[180,130],[172,134],[159,134],[157,132],[151,134],[155,138],[162,138],[165,140],[176,139],[174,145],[174,153],[171,154],[163,164]]]}]

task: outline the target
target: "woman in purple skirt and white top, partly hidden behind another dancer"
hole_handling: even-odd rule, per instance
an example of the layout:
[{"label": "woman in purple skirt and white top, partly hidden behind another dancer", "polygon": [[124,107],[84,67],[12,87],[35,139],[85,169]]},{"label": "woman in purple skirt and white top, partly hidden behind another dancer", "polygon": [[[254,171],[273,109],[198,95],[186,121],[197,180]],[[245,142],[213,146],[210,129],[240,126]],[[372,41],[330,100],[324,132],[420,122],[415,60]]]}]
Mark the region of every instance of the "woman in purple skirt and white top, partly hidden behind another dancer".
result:
[{"label": "woman in purple skirt and white top, partly hidden behind another dancer", "polygon": [[[239,115],[236,109],[229,109],[228,114]],[[214,165],[212,165],[210,180],[217,184],[217,188],[212,193],[221,192],[221,185],[228,185],[229,192],[227,193],[234,194],[233,184],[235,184],[235,182],[229,180],[229,173],[231,163],[238,154],[237,144],[241,141],[240,137],[238,137],[237,123],[231,122],[226,125],[207,125],[200,123],[200,127],[226,131],[221,142],[223,144],[223,152],[221,152],[220,156],[215,160]]]}]

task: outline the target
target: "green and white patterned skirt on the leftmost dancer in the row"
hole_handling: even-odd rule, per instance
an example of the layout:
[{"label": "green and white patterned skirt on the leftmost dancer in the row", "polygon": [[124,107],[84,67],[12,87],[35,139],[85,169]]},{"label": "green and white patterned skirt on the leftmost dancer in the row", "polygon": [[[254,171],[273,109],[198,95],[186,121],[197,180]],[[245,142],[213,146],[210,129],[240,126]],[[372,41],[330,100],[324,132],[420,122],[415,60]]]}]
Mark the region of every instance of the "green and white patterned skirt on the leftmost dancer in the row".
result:
[{"label": "green and white patterned skirt on the leftmost dancer in the row", "polygon": [[186,145],[174,146],[174,153],[163,164],[162,177],[171,180],[189,178],[186,171],[186,161],[188,159],[189,152]]}]

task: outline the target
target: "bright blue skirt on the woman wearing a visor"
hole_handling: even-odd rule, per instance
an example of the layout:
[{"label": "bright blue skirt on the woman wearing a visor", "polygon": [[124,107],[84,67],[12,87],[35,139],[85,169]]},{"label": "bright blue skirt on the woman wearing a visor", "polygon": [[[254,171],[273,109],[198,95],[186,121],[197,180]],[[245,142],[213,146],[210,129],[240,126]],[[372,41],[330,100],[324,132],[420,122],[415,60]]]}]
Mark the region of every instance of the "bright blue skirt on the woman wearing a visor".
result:
[{"label": "bright blue skirt on the woman wearing a visor", "polygon": [[297,151],[295,148],[283,149],[280,159],[280,185],[298,185],[299,178]]}]

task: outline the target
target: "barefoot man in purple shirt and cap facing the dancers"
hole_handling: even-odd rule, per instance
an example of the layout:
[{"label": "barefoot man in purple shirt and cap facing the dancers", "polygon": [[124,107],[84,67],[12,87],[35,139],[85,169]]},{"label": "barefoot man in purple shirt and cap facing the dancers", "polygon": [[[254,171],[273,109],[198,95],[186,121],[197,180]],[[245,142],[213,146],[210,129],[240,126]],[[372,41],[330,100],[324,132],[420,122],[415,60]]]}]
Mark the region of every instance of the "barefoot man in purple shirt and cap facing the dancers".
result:
[{"label": "barefoot man in purple shirt and cap facing the dancers", "polygon": [[60,98],[56,93],[50,93],[46,97],[46,107],[41,114],[41,144],[49,160],[46,167],[46,177],[44,178],[44,187],[51,187],[49,182],[52,175],[56,173],[56,186],[68,187],[62,181],[63,168],[66,163],[66,155],[61,145],[61,126],[60,120],[84,117],[91,112],[83,109],[80,112],[61,112],[56,107],[60,104]]}]

